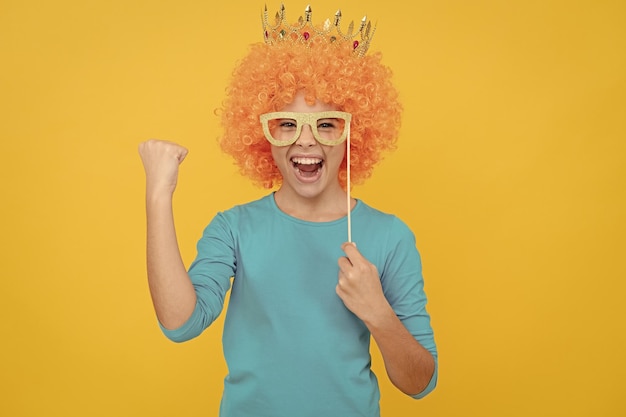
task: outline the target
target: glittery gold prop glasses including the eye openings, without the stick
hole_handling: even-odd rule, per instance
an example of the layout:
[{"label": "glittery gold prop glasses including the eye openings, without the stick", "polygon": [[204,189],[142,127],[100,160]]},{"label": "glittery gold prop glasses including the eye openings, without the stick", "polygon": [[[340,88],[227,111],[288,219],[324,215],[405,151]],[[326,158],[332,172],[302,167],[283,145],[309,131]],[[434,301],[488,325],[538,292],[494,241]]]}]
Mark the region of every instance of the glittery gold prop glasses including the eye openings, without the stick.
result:
[{"label": "glittery gold prop glasses including the eye openings, without the stick", "polygon": [[313,137],[322,145],[336,146],[346,140],[352,115],[342,111],[316,113],[274,112],[260,116],[263,133],[276,146],[289,146],[302,133],[302,126],[309,125]]}]

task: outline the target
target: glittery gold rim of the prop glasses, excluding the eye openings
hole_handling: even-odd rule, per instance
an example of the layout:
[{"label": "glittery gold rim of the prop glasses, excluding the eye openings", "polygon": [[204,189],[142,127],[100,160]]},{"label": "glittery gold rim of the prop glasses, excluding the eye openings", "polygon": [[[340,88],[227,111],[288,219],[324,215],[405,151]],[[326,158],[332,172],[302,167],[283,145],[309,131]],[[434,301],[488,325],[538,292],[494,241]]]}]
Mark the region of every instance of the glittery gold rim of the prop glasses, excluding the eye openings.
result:
[{"label": "glittery gold rim of the prop glasses, excluding the eye openings", "polygon": [[[327,146],[337,146],[343,141],[346,140],[348,136],[348,132],[350,131],[350,121],[352,120],[352,115],[350,113],[344,111],[321,111],[315,113],[301,113],[301,112],[272,112],[272,113],[264,113],[259,116],[261,120],[261,125],[263,126],[263,133],[265,134],[265,138],[275,146],[289,146],[295,143],[296,140],[300,137],[302,133],[302,126],[309,125],[311,127],[311,131],[313,132],[313,137],[322,145]],[[296,132],[293,136],[292,140],[284,141],[284,140],[276,140],[272,137],[270,132],[268,121],[272,119],[290,119],[296,121]],[[328,140],[323,138],[319,132],[317,131],[317,122],[320,119],[342,119],[346,126],[343,129],[343,133],[338,139]]]}]

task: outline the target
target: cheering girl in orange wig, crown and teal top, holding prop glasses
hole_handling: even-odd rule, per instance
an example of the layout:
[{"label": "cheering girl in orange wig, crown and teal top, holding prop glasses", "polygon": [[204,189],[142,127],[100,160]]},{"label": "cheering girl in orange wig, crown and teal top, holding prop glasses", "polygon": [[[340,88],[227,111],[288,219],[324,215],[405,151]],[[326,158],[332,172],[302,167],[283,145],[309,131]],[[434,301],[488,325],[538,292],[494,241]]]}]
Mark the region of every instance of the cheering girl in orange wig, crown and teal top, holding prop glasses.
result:
[{"label": "cheering girl in orange wig, crown and teal top, holding prop glasses", "polygon": [[[148,279],[161,329],[181,342],[220,314],[228,364],[221,416],[379,416],[370,336],[391,382],[422,398],[437,380],[421,261],[405,223],[351,198],[395,147],[401,105],[364,18],[295,25],[281,8],[238,64],[222,149],[275,191],[218,213],[186,270],[172,197],[184,147],[140,144]],[[358,248],[357,248],[358,244]]]}]

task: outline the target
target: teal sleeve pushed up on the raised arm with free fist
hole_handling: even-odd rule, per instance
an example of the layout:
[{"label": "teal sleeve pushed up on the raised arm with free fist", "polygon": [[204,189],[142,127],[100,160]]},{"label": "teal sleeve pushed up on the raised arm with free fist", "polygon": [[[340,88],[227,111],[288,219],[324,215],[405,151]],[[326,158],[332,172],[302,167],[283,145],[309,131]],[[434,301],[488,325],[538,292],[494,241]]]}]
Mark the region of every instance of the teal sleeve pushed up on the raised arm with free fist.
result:
[{"label": "teal sleeve pushed up on the raised arm with free fist", "polygon": [[224,308],[236,261],[234,239],[223,213],[217,214],[205,228],[198,241],[197,252],[198,256],[189,267],[189,277],[197,297],[192,315],[177,329],[166,329],[159,323],[163,334],[174,342],[185,342],[199,336]]}]

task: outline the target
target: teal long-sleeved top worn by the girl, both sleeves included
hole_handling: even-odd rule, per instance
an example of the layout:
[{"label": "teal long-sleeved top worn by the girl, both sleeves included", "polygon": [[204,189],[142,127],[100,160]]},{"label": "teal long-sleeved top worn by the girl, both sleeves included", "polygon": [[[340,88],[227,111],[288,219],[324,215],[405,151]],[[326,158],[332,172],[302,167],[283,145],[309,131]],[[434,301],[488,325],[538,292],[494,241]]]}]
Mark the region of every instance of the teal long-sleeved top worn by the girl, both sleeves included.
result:
[{"label": "teal long-sleeved top worn by the girl, both sleeves included", "polygon": [[[387,300],[437,363],[415,238],[397,217],[357,201],[352,240],[378,268]],[[370,333],[335,292],[347,217],[309,222],[282,212],[273,194],[218,213],[189,268],[197,305],[174,341],[198,336],[229,289],[222,417],[380,415]],[[432,391],[437,368],[428,387]]]}]

